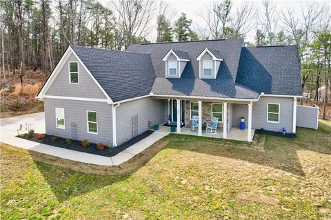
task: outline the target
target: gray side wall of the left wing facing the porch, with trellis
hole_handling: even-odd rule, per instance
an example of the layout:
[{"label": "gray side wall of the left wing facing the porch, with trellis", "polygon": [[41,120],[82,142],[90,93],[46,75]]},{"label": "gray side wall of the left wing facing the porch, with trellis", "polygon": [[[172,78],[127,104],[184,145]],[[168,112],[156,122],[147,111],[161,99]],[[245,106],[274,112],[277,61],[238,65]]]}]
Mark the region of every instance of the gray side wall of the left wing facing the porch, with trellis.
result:
[{"label": "gray side wall of the left wing facing the porch, with trellis", "polygon": [[132,139],[132,117],[138,115],[138,134],[148,130],[148,121],[164,121],[164,100],[149,97],[121,103],[116,109],[117,145]]}]

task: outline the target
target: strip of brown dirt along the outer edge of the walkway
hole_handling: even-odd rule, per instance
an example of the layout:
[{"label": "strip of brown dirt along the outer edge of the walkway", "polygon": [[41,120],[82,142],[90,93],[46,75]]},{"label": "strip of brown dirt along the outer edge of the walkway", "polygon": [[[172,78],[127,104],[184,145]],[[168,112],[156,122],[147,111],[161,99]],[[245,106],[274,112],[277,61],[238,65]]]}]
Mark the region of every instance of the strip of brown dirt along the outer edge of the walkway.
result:
[{"label": "strip of brown dirt along the outer edge of the walkway", "polygon": [[169,143],[168,140],[161,139],[156,143],[152,144],[152,146],[150,146],[146,150],[143,150],[143,152],[135,155],[128,161],[121,163],[121,165],[119,166],[99,166],[89,163],[81,163],[78,161],[71,161],[68,159],[62,159],[59,157],[54,157],[48,154],[42,154],[31,150],[24,150],[22,148],[17,148],[1,142],[0,142],[0,146],[11,150],[17,150],[19,152],[26,152],[30,154],[32,159],[35,161],[41,161],[43,163],[48,163],[63,168],[69,168],[79,172],[101,174],[101,175],[109,175],[109,174],[121,175],[121,174],[128,174],[129,172],[137,170],[137,168],[146,164],[148,161],[150,161],[150,159],[152,159],[152,157],[155,154],[157,154],[157,152],[159,152],[168,143]]}]

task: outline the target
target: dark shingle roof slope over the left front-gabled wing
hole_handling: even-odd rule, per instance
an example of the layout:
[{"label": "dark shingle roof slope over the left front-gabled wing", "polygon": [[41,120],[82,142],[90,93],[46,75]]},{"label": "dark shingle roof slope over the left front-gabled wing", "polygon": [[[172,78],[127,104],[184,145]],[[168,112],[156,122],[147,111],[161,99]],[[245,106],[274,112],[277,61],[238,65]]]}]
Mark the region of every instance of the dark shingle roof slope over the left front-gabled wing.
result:
[{"label": "dark shingle roof slope over the left front-gabled wing", "polygon": [[150,94],[155,79],[150,54],[71,48],[113,102]]}]

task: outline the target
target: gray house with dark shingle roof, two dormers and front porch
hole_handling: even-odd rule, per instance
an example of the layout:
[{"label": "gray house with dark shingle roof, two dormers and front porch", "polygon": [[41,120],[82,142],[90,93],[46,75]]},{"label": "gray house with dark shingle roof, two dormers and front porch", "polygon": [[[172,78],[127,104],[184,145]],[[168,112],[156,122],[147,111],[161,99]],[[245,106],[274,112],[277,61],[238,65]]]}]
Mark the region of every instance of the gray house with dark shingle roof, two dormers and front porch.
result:
[{"label": "gray house with dark shingle roof, two dormers and front porch", "polygon": [[[126,51],[69,46],[37,98],[46,133],[112,146],[148,121],[190,132],[217,117],[217,137],[252,141],[254,129],[295,133],[302,97],[297,46],[245,47],[243,39],[133,44]],[[232,135],[232,136],[231,136]],[[237,137],[234,137],[237,139]]]}]

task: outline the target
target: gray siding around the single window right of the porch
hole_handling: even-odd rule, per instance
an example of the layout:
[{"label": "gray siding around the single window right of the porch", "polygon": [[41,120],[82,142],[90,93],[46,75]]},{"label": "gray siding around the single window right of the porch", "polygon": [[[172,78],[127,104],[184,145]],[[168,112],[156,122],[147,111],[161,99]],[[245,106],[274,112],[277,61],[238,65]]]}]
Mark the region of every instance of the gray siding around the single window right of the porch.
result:
[{"label": "gray siding around the single window right of the porch", "polygon": [[[280,114],[279,123],[267,122],[268,103],[279,103]],[[261,97],[257,103],[252,106],[252,128],[272,130],[282,132],[282,128],[286,128],[286,132],[292,133],[293,125],[293,98],[285,97]]]}]

